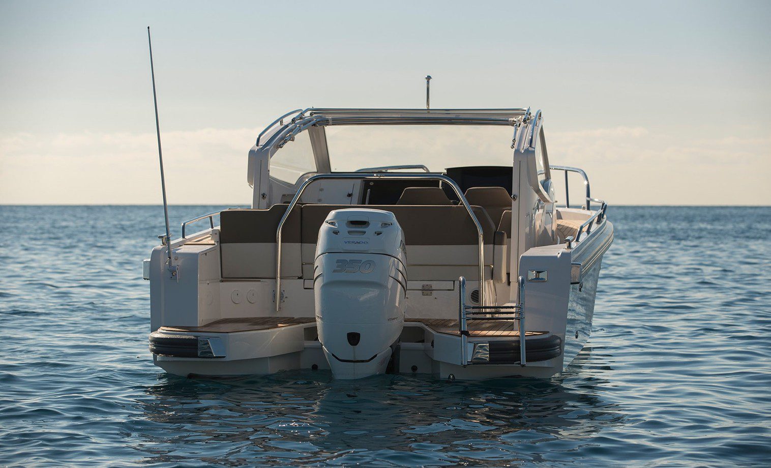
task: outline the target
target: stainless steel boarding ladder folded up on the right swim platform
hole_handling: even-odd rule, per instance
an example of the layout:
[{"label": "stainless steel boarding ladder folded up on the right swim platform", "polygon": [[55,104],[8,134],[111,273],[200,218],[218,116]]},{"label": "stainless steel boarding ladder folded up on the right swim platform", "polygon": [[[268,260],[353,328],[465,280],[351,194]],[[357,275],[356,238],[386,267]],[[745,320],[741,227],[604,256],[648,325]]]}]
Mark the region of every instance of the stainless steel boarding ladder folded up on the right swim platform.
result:
[{"label": "stainless steel boarding ladder folded up on the right swim platform", "polygon": [[[460,335],[460,365],[480,365],[480,364],[504,364],[503,362],[490,362],[490,342],[483,342],[477,338],[471,338],[467,327],[470,320],[479,321],[512,321],[516,320],[519,325],[520,338],[520,360],[519,362],[505,362],[505,364],[527,365],[525,355],[525,295],[524,279],[520,276],[517,279],[519,288],[520,302],[513,305],[466,305],[466,278],[458,278],[460,287],[458,288],[458,332]],[[471,358],[468,357],[468,345],[473,345]]]}]

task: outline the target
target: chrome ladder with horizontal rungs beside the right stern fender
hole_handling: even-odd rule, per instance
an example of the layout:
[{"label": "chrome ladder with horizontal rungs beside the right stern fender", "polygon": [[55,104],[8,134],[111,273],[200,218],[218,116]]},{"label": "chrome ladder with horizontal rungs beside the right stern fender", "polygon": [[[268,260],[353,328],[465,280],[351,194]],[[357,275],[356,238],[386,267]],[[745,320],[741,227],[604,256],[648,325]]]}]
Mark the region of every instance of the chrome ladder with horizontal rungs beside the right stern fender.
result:
[{"label": "chrome ladder with horizontal rungs beside the right stern fender", "polygon": [[[469,320],[517,320],[520,332],[520,365],[527,365],[525,353],[525,281],[521,276],[517,279],[520,302],[515,305],[466,305],[466,278],[458,278],[458,334],[460,335],[460,365],[474,364],[466,356],[468,352]],[[480,293],[482,292],[480,286]],[[480,304],[484,304],[480,301]],[[469,317],[471,315],[471,317]],[[476,315],[487,315],[477,317]]]}]

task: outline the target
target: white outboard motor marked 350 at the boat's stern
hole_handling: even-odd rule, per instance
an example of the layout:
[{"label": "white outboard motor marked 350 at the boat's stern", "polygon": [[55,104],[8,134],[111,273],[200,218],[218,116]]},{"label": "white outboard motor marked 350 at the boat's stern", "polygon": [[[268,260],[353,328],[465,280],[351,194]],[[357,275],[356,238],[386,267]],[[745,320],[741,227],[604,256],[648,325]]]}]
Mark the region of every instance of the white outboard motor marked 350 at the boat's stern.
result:
[{"label": "white outboard motor marked 350 at the boat's stern", "polygon": [[318,231],[318,340],[336,379],[382,374],[404,325],[404,233],[390,211],[332,211]]}]

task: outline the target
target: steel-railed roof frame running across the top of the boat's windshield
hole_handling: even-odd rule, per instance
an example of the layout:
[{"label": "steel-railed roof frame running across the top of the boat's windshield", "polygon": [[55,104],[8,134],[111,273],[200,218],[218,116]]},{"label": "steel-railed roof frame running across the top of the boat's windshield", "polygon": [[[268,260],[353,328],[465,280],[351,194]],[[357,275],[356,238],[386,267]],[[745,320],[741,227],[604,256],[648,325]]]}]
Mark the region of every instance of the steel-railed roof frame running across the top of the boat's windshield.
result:
[{"label": "steel-railed roof frame running across the top of the boat's windshield", "polygon": [[540,110],[513,109],[295,109],[278,117],[257,137],[256,146],[278,147],[311,126],[331,125],[509,125],[540,124]]}]

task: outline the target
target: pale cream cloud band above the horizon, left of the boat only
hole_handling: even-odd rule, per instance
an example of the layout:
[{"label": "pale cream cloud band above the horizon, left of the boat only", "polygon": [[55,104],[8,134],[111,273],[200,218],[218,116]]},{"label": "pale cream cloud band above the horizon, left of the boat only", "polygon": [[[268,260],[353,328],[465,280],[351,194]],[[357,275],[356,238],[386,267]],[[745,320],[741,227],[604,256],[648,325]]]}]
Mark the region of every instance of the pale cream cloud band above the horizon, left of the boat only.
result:
[{"label": "pale cream cloud band above the horizon, left of the boat only", "polygon": [[[251,203],[247,153],[256,129],[162,134],[173,204]],[[0,203],[160,203],[154,133],[19,133],[0,138]]]}]

